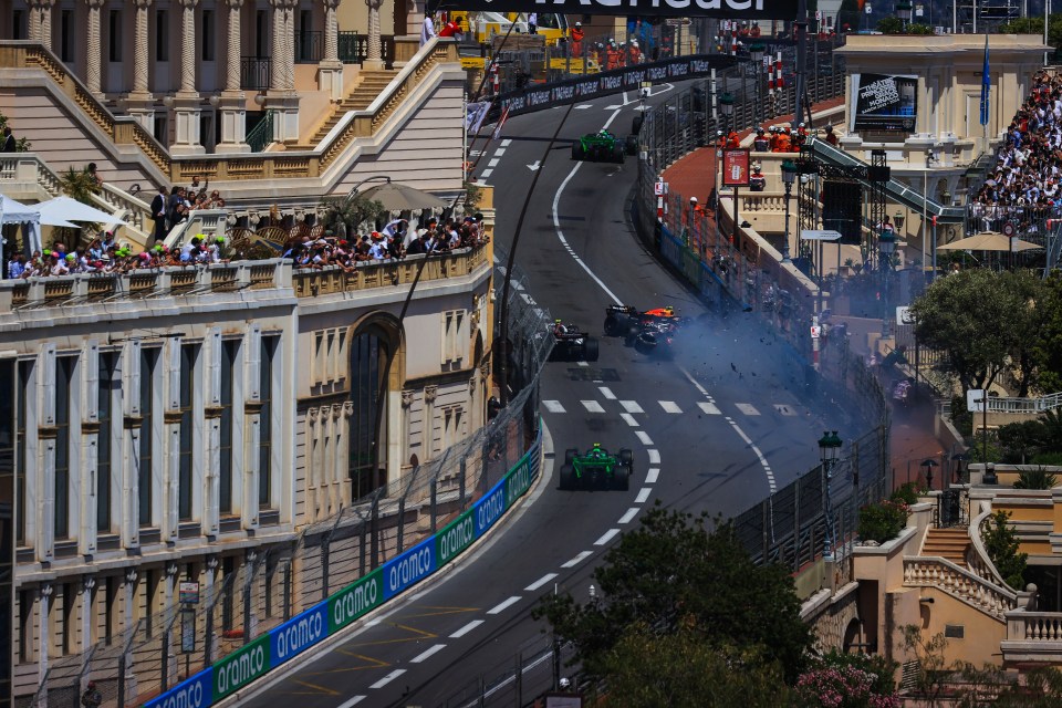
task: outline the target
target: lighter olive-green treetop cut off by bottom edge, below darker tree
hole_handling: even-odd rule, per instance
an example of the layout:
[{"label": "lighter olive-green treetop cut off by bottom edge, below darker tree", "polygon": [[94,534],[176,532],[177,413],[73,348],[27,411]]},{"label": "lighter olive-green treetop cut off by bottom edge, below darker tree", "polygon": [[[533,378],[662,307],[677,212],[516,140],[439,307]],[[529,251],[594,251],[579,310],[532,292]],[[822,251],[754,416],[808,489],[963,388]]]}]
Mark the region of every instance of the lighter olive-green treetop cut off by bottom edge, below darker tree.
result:
[{"label": "lighter olive-green treetop cut off by bottom edge, below darker tree", "polygon": [[778,664],[756,648],[712,645],[697,627],[659,634],[632,625],[603,665],[611,708],[774,708],[790,702]]}]

